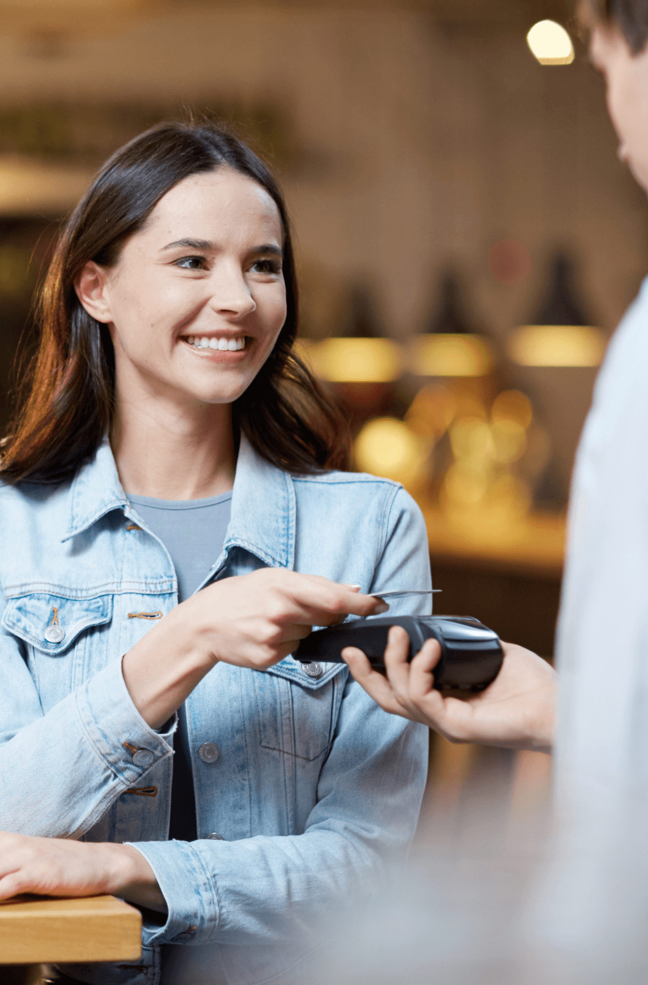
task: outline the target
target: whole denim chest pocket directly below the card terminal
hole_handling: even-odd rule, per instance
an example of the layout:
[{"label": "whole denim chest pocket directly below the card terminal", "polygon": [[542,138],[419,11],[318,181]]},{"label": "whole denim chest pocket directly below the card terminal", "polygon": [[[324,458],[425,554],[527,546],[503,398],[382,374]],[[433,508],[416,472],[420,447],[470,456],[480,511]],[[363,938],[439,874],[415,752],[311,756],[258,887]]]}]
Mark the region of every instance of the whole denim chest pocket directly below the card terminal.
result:
[{"label": "whole denim chest pocket directly below the card terminal", "polygon": [[313,762],[333,741],[337,705],[344,688],[343,664],[323,665],[309,677],[292,658],[254,674],[261,748]]}]

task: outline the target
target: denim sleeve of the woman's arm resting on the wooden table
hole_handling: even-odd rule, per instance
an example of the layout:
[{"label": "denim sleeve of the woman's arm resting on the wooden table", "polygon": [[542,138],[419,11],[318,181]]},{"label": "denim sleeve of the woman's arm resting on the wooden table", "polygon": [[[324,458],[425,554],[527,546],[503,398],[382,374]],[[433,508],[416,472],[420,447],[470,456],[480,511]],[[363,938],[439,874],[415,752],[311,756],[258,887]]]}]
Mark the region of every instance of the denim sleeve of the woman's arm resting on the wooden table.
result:
[{"label": "denim sleeve of the woman's arm resting on the wooden table", "polygon": [[[421,511],[401,489],[374,580],[377,587],[430,581]],[[168,907],[162,928],[145,928],[145,944],[240,945],[293,940],[312,929],[341,898],[375,888],[407,851],[426,771],[427,729],[386,714],[349,677],[303,833],[132,842]]]}]

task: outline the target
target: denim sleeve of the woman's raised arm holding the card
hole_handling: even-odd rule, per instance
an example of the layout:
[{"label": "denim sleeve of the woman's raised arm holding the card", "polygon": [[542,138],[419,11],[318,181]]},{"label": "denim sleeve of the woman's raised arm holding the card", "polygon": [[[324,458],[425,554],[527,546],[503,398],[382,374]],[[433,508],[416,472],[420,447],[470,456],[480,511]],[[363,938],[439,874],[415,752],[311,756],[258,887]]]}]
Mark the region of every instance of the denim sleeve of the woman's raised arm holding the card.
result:
[{"label": "denim sleeve of the woman's raised arm holding the card", "polygon": [[[0,619],[6,601],[0,592]],[[80,837],[129,787],[172,755],[112,660],[43,713],[22,643],[0,627],[0,829]],[[127,745],[125,745],[127,744]],[[129,749],[130,747],[130,749]],[[131,750],[147,749],[146,763]]]}]

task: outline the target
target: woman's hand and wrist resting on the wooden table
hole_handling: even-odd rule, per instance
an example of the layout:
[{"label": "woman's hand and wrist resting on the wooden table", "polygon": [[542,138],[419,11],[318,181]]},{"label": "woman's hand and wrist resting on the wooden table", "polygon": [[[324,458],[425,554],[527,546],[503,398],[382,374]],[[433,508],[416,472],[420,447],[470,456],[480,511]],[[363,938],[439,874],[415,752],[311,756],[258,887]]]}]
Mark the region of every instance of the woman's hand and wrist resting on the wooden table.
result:
[{"label": "woman's hand and wrist resting on the wooden table", "polygon": [[132,845],[34,838],[0,831],[0,899],[115,893],[149,909],[165,909],[153,869]]}]

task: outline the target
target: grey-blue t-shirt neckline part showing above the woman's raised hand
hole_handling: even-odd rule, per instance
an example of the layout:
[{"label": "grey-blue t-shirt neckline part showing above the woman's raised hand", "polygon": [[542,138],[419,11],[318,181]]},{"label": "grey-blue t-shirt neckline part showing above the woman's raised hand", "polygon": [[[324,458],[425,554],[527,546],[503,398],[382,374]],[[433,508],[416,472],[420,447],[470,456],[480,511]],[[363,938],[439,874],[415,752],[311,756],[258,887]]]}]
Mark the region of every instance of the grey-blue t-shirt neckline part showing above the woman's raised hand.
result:
[{"label": "grey-blue t-shirt neckline part showing above the woman's raised hand", "polygon": [[178,602],[189,598],[223,551],[231,493],[207,499],[154,499],[129,495],[146,525],[168,551],[178,582]]}]

